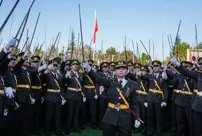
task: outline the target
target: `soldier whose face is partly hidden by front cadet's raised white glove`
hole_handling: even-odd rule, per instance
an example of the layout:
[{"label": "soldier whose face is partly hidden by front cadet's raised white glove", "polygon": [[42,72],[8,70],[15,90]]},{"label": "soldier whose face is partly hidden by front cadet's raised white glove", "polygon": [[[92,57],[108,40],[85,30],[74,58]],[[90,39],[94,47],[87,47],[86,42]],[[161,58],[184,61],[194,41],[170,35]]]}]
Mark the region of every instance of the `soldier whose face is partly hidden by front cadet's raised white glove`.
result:
[{"label": "soldier whose face is partly hidden by front cadet's raised white glove", "polygon": [[[94,61],[88,60],[89,65],[92,66]],[[86,97],[86,102],[82,107],[82,114],[84,115],[84,119],[87,119],[86,122],[89,122],[88,119],[90,119],[90,125],[93,129],[96,128],[96,103],[98,99],[98,94],[96,90],[96,86],[94,81],[91,79],[91,77],[88,76],[88,74],[84,73],[83,75],[83,85],[84,85],[84,95]]]}]

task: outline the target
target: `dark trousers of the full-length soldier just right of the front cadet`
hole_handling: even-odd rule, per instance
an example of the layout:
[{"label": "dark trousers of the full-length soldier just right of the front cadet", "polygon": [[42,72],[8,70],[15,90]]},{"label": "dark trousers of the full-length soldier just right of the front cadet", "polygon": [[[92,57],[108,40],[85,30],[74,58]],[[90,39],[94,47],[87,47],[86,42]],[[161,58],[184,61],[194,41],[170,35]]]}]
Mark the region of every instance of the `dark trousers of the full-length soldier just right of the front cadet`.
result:
[{"label": "dark trousers of the full-length soldier just right of the front cadet", "polygon": [[148,102],[148,105],[147,105],[147,135],[153,135],[155,127],[157,128],[157,135],[162,136],[161,104]]}]

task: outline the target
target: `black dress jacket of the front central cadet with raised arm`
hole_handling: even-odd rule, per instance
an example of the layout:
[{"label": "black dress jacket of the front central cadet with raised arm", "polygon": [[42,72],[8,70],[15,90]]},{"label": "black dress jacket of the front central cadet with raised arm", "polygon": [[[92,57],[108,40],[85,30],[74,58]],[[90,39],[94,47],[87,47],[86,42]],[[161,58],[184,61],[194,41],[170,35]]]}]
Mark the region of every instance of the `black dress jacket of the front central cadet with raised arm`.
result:
[{"label": "black dress jacket of the front central cadet with raised arm", "polygon": [[[107,90],[108,90],[109,103],[125,104],[124,101],[121,99],[116,87],[120,88],[122,94],[128,101],[131,110],[135,112],[137,118],[140,117],[140,111],[139,111],[139,105],[137,103],[137,93],[136,93],[136,90],[139,89],[139,86],[135,82],[128,80],[125,87],[122,88],[116,79],[106,80],[105,78],[98,76],[93,70],[91,70],[88,74],[93,79],[93,81],[108,88]],[[117,111],[116,109],[108,107],[103,117],[103,122],[114,126],[131,127],[132,116],[129,109]]]}]

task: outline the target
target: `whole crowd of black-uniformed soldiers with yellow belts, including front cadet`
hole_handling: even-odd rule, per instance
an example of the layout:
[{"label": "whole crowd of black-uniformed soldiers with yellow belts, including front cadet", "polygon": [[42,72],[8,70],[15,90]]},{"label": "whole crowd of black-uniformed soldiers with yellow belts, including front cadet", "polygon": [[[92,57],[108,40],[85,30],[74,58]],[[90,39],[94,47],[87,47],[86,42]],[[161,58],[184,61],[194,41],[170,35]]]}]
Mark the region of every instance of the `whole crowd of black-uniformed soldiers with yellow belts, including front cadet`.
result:
[{"label": "whole crowd of black-uniformed soldiers with yellow belts, including front cadet", "polygon": [[202,135],[202,58],[98,67],[93,60],[17,54],[15,45],[13,39],[0,53],[1,136],[63,136],[86,126],[104,136],[131,136],[134,128],[163,136],[165,124],[172,136]]}]

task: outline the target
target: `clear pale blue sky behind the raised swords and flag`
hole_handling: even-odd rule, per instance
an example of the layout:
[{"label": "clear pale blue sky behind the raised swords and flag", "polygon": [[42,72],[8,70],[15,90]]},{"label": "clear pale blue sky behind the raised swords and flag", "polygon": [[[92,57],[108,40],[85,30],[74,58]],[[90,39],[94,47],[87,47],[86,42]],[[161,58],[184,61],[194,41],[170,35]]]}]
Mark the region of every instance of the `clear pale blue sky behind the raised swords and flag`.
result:
[{"label": "clear pale blue sky behind the raised swords and flag", "polygon": [[[16,0],[4,0],[0,7],[0,22],[2,23]],[[14,15],[10,18],[0,38],[3,43],[14,36],[32,0],[20,0]],[[74,29],[76,39],[80,32],[78,4],[81,6],[84,43],[89,44],[93,36],[94,11],[96,10],[99,30],[97,42],[93,47],[101,49],[103,40],[104,51],[109,47],[123,50],[123,41],[129,43],[128,49],[133,50],[132,40],[139,43],[140,52],[145,52],[140,40],[147,50],[149,39],[151,56],[153,59],[162,59],[162,37],[164,43],[164,57],[169,54],[167,35],[171,34],[174,41],[179,21],[182,20],[179,35],[183,41],[192,46],[195,43],[195,24],[197,24],[198,41],[202,41],[202,0],[36,0],[27,28],[31,36],[34,30],[38,13],[41,17],[36,30],[33,45],[46,41],[43,49],[47,49],[53,37],[61,32],[59,46],[67,47],[70,27]],[[11,28],[13,20],[13,26]],[[10,36],[10,38],[11,38]],[[26,32],[23,41],[26,38]],[[22,42],[23,43],[23,42]]]}]

